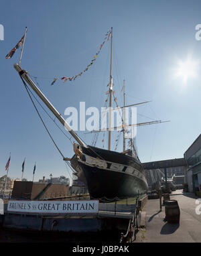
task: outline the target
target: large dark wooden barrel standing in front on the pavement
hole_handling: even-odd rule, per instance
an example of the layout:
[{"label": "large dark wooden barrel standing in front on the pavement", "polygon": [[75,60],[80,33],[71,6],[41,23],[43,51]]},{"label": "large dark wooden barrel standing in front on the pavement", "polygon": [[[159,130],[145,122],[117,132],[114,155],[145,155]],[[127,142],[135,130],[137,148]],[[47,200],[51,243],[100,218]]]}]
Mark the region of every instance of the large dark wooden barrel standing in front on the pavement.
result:
[{"label": "large dark wooden barrel standing in front on the pavement", "polygon": [[165,220],[169,223],[180,223],[180,207],[177,200],[165,201]]}]

